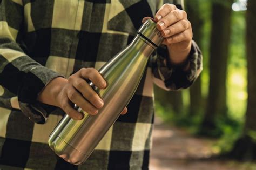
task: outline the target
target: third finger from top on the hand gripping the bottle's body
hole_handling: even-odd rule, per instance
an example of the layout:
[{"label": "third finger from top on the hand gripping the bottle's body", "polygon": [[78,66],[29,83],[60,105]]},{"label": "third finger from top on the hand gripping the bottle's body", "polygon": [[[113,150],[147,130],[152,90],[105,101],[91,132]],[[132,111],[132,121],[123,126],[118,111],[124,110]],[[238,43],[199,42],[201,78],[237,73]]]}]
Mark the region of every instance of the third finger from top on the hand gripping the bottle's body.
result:
[{"label": "third finger from top on the hand gripping the bottle's body", "polygon": [[91,115],[95,115],[98,113],[98,109],[95,108],[92,104],[86,101],[83,96],[76,91],[74,87],[70,87],[67,91],[68,98],[72,103],[77,104],[80,108],[82,108],[85,112]]}]

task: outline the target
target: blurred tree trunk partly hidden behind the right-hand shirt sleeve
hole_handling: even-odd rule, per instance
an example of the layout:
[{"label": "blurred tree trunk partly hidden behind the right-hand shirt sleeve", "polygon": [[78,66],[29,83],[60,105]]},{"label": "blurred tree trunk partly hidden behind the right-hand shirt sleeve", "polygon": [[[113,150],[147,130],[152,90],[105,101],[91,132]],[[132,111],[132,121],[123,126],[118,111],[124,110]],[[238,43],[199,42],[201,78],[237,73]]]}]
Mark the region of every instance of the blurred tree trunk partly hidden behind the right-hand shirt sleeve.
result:
[{"label": "blurred tree trunk partly hidden behind the right-hand shirt sleeve", "polygon": [[[197,44],[201,46],[201,39],[203,35],[203,18],[200,13],[199,0],[186,0],[185,4],[188,19],[192,24],[193,40],[195,40]],[[201,88],[201,76],[199,76],[196,82],[190,87],[189,115],[196,115],[203,110]]]}]

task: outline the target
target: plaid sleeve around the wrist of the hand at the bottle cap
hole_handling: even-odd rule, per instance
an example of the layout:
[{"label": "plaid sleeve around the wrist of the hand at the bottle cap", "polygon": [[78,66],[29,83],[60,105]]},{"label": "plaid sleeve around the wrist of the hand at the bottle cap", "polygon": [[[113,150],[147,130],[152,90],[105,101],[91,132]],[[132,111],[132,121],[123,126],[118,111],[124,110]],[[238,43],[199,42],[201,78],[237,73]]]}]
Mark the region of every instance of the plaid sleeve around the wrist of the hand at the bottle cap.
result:
[{"label": "plaid sleeve around the wrist of the hand at the bottle cap", "polygon": [[[159,2],[158,9],[164,3],[173,3],[179,9],[183,9],[184,6],[182,0]],[[188,55],[188,62],[190,62],[188,71],[184,71],[182,66],[171,65],[168,54],[167,47],[162,45],[158,48],[156,55],[152,57],[154,83],[165,90],[185,89],[191,86],[203,69],[203,57],[196,42],[192,41],[191,51]]]}]

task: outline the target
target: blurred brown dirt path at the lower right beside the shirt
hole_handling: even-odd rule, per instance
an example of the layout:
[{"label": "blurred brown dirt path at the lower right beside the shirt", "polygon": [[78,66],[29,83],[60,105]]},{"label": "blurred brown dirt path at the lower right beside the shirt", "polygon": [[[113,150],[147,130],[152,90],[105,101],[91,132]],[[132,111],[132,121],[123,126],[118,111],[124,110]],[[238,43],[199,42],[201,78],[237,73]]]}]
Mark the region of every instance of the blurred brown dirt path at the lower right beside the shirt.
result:
[{"label": "blurred brown dirt path at the lower right beside the shirt", "polygon": [[167,126],[159,118],[153,130],[150,170],[255,170],[248,164],[207,159],[212,155],[208,139],[192,137],[183,130]]}]

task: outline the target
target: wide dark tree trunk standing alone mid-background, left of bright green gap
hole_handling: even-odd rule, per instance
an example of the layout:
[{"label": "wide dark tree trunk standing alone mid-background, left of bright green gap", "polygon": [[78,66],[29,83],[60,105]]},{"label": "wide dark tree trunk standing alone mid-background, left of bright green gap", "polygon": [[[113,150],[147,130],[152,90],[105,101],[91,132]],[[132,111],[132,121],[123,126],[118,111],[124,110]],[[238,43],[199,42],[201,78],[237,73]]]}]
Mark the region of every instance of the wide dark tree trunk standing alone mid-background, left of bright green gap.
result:
[{"label": "wide dark tree trunk standing alone mid-background, left of bright green gap", "polygon": [[[210,85],[205,117],[201,130],[215,133],[215,118],[227,113],[226,72],[230,42],[231,6],[233,0],[212,2],[212,31],[210,45]],[[203,134],[204,134],[203,132]],[[218,135],[218,134],[213,134]]]}]

